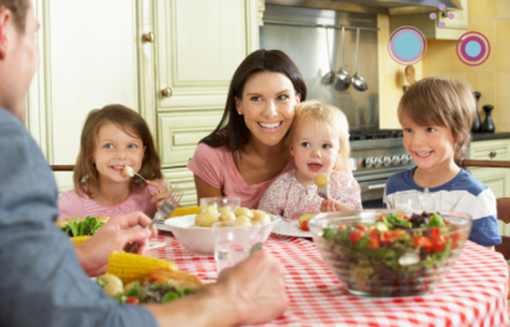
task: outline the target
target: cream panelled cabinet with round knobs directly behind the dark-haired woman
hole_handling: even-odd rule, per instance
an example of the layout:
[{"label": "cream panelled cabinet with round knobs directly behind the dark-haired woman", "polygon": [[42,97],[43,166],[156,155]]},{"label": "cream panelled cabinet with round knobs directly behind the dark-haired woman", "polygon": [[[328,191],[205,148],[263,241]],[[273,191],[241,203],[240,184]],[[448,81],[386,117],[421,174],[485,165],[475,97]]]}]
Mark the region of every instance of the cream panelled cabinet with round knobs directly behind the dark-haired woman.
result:
[{"label": "cream panelled cabinet with round knobs directly behind the dark-haired woman", "polygon": [[258,49],[258,10],[257,0],[155,2],[163,167],[185,166],[198,141],[218,124],[235,70]]}]

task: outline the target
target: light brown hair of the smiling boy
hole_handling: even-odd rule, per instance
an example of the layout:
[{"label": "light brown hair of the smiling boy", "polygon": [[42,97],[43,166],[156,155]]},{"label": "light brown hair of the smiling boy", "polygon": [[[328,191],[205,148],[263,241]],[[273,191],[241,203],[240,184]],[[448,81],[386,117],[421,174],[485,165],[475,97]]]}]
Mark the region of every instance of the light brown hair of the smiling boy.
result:
[{"label": "light brown hair of the smiling boy", "polygon": [[470,88],[446,78],[424,79],[410,86],[398,104],[398,120],[407,114],[420,126],[439,125],[451,130],[455,159],[468,154],[469,132],[477,103]]}]

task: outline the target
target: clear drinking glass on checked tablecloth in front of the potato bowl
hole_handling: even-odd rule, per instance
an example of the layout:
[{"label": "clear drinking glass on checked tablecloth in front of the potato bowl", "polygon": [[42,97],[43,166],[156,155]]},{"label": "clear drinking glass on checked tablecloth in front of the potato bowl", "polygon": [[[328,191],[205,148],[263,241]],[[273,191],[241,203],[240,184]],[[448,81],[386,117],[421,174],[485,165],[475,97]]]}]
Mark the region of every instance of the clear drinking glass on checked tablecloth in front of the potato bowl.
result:
[{"label": "clear drinking glass on checked tablecloth in front of the potato bowl", "polygon": [[[235,222],[220,222],[213,225],[214,258],[220,274],[249,256],[252,248],[263,243],[264,225],[237,226]],[[255,247],[254,247],[255,246]]]}]

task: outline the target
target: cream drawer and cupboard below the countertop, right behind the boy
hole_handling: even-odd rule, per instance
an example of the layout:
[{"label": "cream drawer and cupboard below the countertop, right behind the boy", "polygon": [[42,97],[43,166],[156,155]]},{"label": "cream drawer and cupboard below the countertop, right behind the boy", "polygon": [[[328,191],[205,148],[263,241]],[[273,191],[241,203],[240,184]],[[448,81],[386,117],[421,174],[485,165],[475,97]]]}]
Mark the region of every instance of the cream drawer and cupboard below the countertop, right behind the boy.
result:
[{"label": "cream drawer and cupboard below the countertop, right behind the boy", "polygon": [[[510,160],[510,140],[471,142],[469,157],[473,160]],[[471,174],[489,186],[496,197],[510,196],[510,170],[471,167]]]}]

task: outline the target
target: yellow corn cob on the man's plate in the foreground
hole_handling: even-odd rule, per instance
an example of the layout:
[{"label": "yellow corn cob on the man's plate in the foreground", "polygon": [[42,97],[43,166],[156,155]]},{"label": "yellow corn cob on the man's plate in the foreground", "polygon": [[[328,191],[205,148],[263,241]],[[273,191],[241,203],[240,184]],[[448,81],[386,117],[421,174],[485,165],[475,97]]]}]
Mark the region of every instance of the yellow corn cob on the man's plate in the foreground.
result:
[{"label": "yellow corn cob on the man's plate in the foreground", "polygon": [[175,270],[175,265],[169,260],[122,251],[110,254],[106,273],[118,276],[125,285],[135,280],[143,283],[150,272],[159,268]]}]

